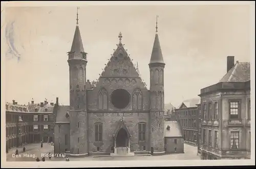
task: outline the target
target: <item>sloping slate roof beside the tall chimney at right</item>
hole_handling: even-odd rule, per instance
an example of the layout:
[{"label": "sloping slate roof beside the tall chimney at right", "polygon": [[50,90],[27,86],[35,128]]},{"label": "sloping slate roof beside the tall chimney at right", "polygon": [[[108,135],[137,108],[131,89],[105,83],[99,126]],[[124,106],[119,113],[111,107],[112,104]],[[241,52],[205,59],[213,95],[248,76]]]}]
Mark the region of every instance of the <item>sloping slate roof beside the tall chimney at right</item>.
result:
[{"label": "sloping slate roof beside the tall chimney at right", "polygon": [[238,62],[224,75],[220,82],[246,82],[250,80],[250,62]]}]

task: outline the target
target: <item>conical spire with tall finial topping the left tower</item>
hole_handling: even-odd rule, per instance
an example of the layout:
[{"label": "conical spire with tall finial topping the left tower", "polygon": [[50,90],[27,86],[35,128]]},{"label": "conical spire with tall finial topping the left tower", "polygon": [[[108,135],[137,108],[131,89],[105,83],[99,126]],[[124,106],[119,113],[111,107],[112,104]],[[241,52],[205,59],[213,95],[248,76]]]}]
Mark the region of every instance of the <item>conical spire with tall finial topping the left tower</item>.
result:
[{"label": "conical spire with tall finial topping the left tower", "polygon": [[[79,9],[79,8],[77,8]],[[81,38],[81,34],[80,34],[80,30],[79,30],[79,26],[78,26],[78,11],[76,14],[76,30],[75,30],[75,34],[74,34],[74,38],[73,38],[73,42],[72,42],[72,46],[71,46],[71,52],[75,52],[76,54],[80,54],[83,51],[83,45],[82,45],[82,38]]]}]

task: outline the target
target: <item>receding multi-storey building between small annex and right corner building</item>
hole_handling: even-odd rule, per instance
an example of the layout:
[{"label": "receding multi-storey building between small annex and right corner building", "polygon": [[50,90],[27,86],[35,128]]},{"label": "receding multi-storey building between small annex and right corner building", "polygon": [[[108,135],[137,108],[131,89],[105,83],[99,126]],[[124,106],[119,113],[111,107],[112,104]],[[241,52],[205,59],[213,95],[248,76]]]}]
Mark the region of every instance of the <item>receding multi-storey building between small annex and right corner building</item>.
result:
[{"label": "receding multi-storey building between small annex and right corner building", "polygon": [[200,98],[185,100],[178,109],[175,116],[182,126],[184,142],[192,146],[198,144],[198,106]]}]

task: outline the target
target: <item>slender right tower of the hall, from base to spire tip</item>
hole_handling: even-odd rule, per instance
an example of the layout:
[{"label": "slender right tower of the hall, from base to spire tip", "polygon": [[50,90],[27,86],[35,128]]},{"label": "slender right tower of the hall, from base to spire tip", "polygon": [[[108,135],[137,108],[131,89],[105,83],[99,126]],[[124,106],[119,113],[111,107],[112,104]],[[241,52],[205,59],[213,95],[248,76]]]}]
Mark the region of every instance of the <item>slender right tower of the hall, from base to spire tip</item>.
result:
[{"label": "slender right tower of the hall, from base to spire tip", "polygon": [[[158,16],[157,16],[158,17]],[[151,147],[154,154],[164,154],[164,66],[162,51],[158,38],[156,21],[156,35],[150,63],[150,120]]]}]

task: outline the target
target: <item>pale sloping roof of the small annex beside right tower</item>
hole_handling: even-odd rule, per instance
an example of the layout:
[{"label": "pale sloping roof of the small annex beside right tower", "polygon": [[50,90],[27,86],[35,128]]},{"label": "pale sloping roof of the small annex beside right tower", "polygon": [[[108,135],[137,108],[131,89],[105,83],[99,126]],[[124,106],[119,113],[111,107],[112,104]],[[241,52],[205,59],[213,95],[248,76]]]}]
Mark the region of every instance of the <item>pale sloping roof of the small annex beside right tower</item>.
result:
[{"label": "pale sloping roof of the small annex beside right tower", "polygon": [[[169,125],[170,130],[167,130]],[[180,137],[182,136],[182,129],[177,121],[165,121],[164,122],[164,136],[165,137]]]}]

